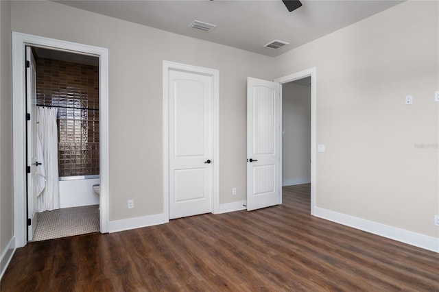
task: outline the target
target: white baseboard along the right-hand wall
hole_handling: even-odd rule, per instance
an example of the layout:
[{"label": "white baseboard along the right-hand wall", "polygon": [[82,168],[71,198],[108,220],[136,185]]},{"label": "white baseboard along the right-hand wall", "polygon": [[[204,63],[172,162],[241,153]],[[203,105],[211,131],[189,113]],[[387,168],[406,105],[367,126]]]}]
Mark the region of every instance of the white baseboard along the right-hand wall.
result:
[{"label": "white baseboard along the right-hand wall", "polygon": [[377,234],[379,236],[387,237],[388,239],[393,239],[409,245],[414,245],[425,250],[430,250],[431,252],[439,253],[439,239],[435,237],[403,230],[401,228],[388,226],[358,217],[353,217],[351,215],[345,215],[323,208],[316,207],[314,215],[335,223],[340,223],[345,226]]}]

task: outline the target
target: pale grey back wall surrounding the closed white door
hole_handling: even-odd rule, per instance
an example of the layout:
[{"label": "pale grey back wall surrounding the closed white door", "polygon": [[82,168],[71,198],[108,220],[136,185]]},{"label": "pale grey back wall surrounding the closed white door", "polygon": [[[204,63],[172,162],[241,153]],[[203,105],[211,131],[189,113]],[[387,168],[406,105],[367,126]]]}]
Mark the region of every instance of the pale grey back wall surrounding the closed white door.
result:
[{"label": "pale grey back wall surrounding the closed white door", "polygon": [[220,203],[246,199],[246,77],[272,58],[51,1],[14,1],[12,30],[108,48],[110,221],[163,212],[163,60],[219,70]]}]

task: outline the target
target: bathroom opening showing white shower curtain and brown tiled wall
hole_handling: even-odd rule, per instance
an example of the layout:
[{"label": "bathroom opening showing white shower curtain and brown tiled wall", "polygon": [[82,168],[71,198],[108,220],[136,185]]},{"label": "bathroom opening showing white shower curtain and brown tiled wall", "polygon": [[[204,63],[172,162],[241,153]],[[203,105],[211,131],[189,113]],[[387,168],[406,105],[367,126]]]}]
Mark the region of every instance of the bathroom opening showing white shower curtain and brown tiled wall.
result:
[{"label": "bathroom opening showing white shower curtain and brown tiled wall", "polygon": [[99,232],[99,58],[26,55],[27,240]]}]

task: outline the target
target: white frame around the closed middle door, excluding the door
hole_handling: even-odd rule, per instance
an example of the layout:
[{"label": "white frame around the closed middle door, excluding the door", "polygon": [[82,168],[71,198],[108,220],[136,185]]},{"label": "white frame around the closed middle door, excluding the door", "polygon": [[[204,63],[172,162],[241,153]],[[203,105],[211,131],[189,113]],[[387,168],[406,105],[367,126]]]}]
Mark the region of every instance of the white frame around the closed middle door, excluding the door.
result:
[{"label": "white frame around the closed middle door, excluding the door", "polygon": [[176,62],[163,61],[163,214],[169,222],[169,70],[209,75],[213,78],[213,214],[219,212],[219,71]]}]

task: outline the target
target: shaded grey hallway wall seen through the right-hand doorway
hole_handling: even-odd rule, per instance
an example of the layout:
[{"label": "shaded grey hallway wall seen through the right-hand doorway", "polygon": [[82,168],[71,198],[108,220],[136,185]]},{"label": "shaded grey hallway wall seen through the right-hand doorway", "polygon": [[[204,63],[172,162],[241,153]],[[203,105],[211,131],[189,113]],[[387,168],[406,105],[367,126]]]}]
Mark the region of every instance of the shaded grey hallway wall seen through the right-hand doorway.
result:
[{"label": "shaded grey hallway wall seen through the right-hand doorway", "polygon": [[311,182],[311,87],[282,85],[282,185]]}]

